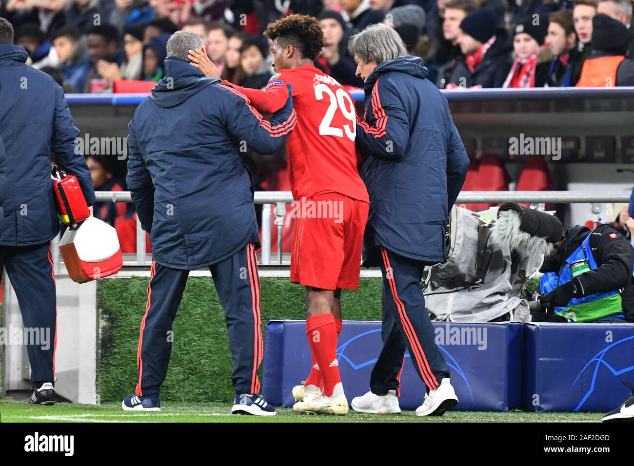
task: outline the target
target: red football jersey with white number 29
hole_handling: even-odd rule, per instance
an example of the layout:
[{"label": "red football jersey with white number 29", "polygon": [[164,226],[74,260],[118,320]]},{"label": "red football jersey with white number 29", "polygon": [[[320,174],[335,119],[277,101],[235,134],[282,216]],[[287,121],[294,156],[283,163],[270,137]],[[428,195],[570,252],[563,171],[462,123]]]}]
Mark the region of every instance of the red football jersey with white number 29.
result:
[{"label": "red football jersey with white number 29", "polygon": [[286,143],[293,197],[334,191],[370,202],[356,167],[354,100],[339,82],[313,65],[304,65],[274,74],[264,91],[234,87],[258,110],[273,113],[288,99],[287,84],[292,86],[297,113]]}]

